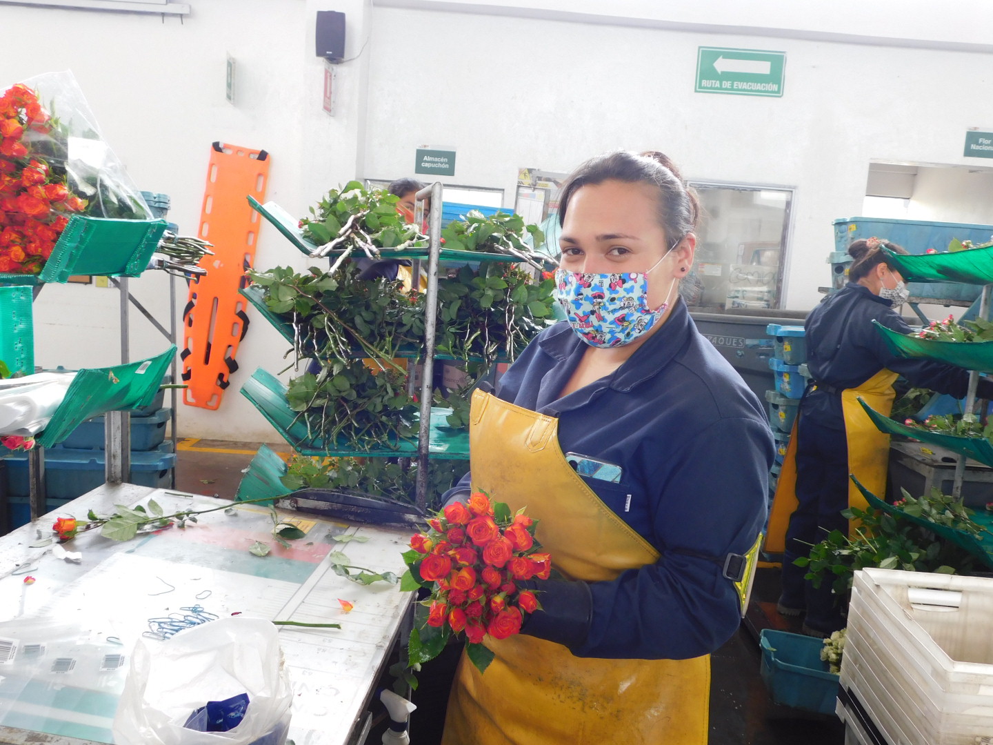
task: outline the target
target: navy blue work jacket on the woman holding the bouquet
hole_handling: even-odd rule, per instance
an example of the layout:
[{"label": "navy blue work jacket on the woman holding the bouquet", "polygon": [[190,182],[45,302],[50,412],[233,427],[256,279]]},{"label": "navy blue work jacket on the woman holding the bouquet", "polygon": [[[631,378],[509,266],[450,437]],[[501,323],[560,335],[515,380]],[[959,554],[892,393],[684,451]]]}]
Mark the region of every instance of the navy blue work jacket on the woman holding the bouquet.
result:
[{"label": "navy blue work jacket on the woman holding the bouquet", "polygon": [[[766,520],[775,454],[766,412],[681,299],[617,371],[559,398],[586,349],[568,323],[556,324],[497,391],[558,417],[563,453],[620,465],[618,484],[584,481],[660,554],[654,564],[590,584],[589,633],[569,647],[579,657],[615,659],[713,652],[741,620],[725,557],[751,548]],[[554,587],[541,602],[554,617]]]}]

